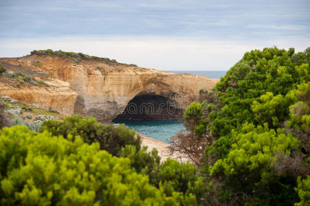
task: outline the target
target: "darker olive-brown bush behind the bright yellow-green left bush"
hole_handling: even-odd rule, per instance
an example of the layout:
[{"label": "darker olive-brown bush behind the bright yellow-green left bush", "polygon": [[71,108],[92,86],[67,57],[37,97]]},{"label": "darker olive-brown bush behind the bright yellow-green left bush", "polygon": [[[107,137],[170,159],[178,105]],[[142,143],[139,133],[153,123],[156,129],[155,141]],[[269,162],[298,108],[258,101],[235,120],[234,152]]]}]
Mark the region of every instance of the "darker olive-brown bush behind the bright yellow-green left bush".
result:
[{"label": "darker olive-brown bush behind the bright yellow-green left bush", "polygon": [[88,144],[98,142],[101,150],[107,150],[112,155],[117,155],[126,145],[133,145],[136,150],[140,150],[140,136],[136,138],[134,130],[129,130],[123,125],[107,126],[97,122],[93,117],[71,115],[61,122],[48,120],[43,122],[40,131],[43,130],[48,130],[53,135],[63,135],[65,138],[69,135],[80,136]]}]

